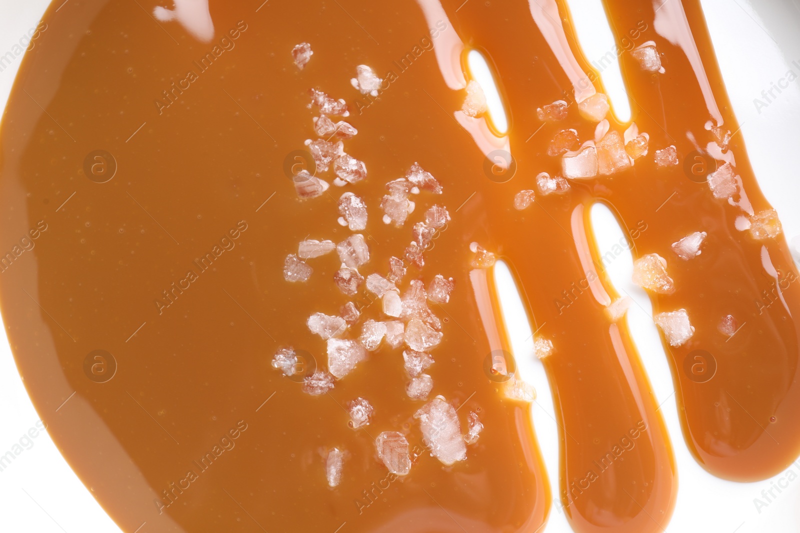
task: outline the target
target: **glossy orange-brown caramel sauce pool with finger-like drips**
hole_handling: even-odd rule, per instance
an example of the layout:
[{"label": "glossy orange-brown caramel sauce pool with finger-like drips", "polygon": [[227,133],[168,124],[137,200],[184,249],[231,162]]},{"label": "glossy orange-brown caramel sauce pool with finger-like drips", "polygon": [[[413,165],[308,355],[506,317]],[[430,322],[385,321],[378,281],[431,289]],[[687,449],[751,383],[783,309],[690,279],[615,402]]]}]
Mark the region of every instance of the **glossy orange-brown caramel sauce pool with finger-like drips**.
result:
[{"label": "glossy orange-brown caramel sauce pool with finger-like drips", "polygon": [[[560,2],[255,3],[211,2],[210,42],[151,17],[154,2],[51,6],[0,129],[0,243],[12,254],[0,286],[14,356],[54,442],[124,531],[539,531],[549,482],[529,404],[485,372],[487,357],[510,348],[491,270],[472,266],[472,242],[510,265],[532,330],[554,344],[543,359],[561,444],[554,504],[575,531],[666,527],[674,458],[626,322],[606,312],[619,295],[594,252],[596,201],[627,229],[634,258],[667,259],[676,290],[653,295],[654,312],[684,308],[694,325],[685,344],[664,345],[698,463],[748,481],[794,460],[797,270],[783,235],[736,229],[746,202],[769,209],[741,136],[714,152],[720,165],[735,157],[739,205],[684,168],[698,148],[711,150],[707,121],[738,132],[698,2],[658,13],[652,2],[606,2],[631,120],[650,151],[631,169],[538,194],[524,210],[514,195],[535,189],[538,173],[561,173],[550,140],[564,129],[594,139],[597,124],[575,97],[590,89],[584,73],[602,85]],[[642,71],[630,54],[648,41],[664,73]],[[314,50],[302,70],[290,54],[300,42]],[[461,43],[494,68],[507,137],[481,137],[490,123],[454,115],[469,78]],[[384,78],[377,97],[350,84],[362,63]],[[347,101],[344,120],[358,135],[345,149],[368,176],[302,201],[283,169],[317,138],[312,87]],[[542,124],[537,108],[562,99],[566,118]],[[628,127],[607,118],[619,133]],[[658,168],[655,150],[670,145],[680,164]],[[510,180],[485,171],[487,146],[513,154]],[[444,192],[414,195],[406,224],[385,225],[386,182],[414,161]],[[282,276],[299,241],[354,233],[337,224],[345,191],[369,210],[364,276],[386,275],[431,205],[450,212],[424,267],[410,265],[398,286],[455,280],[448,303],[430,304],[443,337],[426,371],[429,400],[444,396],[465,432],[468,412],[485,429],[452,466],[426,450],[414,419],[425,402],[406,396],[402,348],[382,344],[322,396],[270,364],[293,346],[325,368],[325,342],[306,327],[314,312],[355,301],[360,324],[386,320],[370,293],[338,290],[336,253],[309,260],[305,283]],[[695,231],[708,234],[702,254],[678,259],[670,245]],[[718,331],[727,315],[741,325],[734,336]],[[684,370],[697,350],[715,361],[710,380]],[[374,406],[357,430],[346,412],[355,397]],[[409,441],[408,475],[390,474],[376,455],[387,431]],[[333,488],[332,447],[345,451]]]}]

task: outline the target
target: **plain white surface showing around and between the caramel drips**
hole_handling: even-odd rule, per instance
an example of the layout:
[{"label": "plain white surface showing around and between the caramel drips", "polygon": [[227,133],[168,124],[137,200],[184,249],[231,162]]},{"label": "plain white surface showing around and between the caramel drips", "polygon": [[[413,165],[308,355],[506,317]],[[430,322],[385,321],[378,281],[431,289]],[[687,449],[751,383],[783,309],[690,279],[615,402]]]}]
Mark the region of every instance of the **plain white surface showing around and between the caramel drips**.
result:
[{"label": "plain white surface showing around and between the caramel drips", "polygon": [[[660,4],[662,0],[655,2]],[[36,26],[47,3],[46,0],[0,0],[3,14],[0,17],[0,55],[11,50],[19,38]],[[594,4],[594,7],[593,11],[586,13],[602,13],[602,10],[597,10],[597,0],[570,0],[574,7],[587,3]],[[800,247],[800,181],[793,161],[797,150],[795,143],[800,140],[800,81],[788,83],[782,93],[775,93],[776,97],[770,98],[772,101],[766,107],[754,103],[755,98],[766,101],[762,90],[769,90],[771,82],[778,84],[790,70],[800,75],[800,39],[796,31],[800,24],[800,11],[794,5],[788,5],[789,2],[781,6],[777,3],[761,2],[754,10],[744,0],[702,1],[734,111],[742,124],[742,132],[738,134],[745,137],[759,183],[778,209],[787,238],[795,247]],[[585,24],[578,22],[577,18],[576,22],[583,32],[580,40],[587,47],[586,56],[590,61],[602,58],[610,50],[608,35],[604,36],[607,26],[605,30],[601,26],[599,36],[592,36],[586,34]],[[591,46],[598,46],[600,53],[592,54]],[[21,59],[14,58],[12,65],[0,72],[0,102],[3,105]],[[795,60],[798,62],[796,65],[793,64]],[[609,86],[613,85],[609,78],[613,72],[614,68],[610,67],[602,73]],[[609,89],[609,93],[614,112],[619,117],[624,116],[624,105],[619,101],[618,92]],[[610,214],[601,209],[599,213],[593,212],[593,216],[600,245],[608,247],[618,242],[622,233]],[[794,252],[796,257],[800,257],[800,248]],[[628,292],[637,302],[630,309],[628,320],[631,329],[637,332],[639,352],[658,400],[664,402],[661,410],[678,461],[678,504],[666,531],[800,531],[800,477],[789,476],[793,477],[789,481],[786,474],[759,483],[730,483],[706,474],[690,457],[678,424],[674,396],[670,396],[673,388],[666,356],[650,320],[650,302],[640,289],[630,286],[627,281],[630,280],[630,268],[630,253],[617,257],[609,266],[618,291]],[[498,267],[498,278],[502,280],[504,276],[508,282],[507,270]],[[515,296],[513,290],[508,294]],[[513,300],[504,298],[504,304],[513,306]],[[519,306],[518,301],[516,305]],[[524,320],[519,320],[523,316],[522,310],[516,308],[508,312],[506,318],[513,326],[513,347],[519,367],[523,376],[538,390],[534,424],[550,482],[554,484],[553,494],[558,495],[558,432],[553,419],[554,409],[542,365],[532,357],[530,328]],[[0,412],[3,412],[0,424],[2,455],[14,444],[19,444],[22,436],[34,428],[38,420],[14,365],[5,330],[0,338]],[[23,442],[29,449],[24,449],[10,466],[0,471],[0,531],[120,531],[70,470],[46,433],[30,440],[32,445]],[[800,467],[793,467],[793,471],[800,474]],[[786,487],[782,487],[778,497],[759,512],[754,499],[763,498],[762,491],[769,490],[775,483]],[[571,531],[558,506],[551,511],[550,522],[544,531]]]}]

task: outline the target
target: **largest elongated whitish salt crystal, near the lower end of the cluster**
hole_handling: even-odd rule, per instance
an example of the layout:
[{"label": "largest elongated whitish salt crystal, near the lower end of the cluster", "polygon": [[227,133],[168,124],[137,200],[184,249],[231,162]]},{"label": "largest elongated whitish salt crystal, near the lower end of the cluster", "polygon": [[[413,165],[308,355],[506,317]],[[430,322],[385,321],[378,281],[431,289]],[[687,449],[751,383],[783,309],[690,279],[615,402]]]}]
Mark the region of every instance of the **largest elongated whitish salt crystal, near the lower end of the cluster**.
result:
[{"label": "largest elongated whitish salt crystal, near the lower end of the cluster", "polygon": [[461,436],[461,423],[455,408],[442,396],[436,396],[414,413],[419,420],[422,440],[430,453],[442,464],[450,466],[466,459],[466,444]]}]

